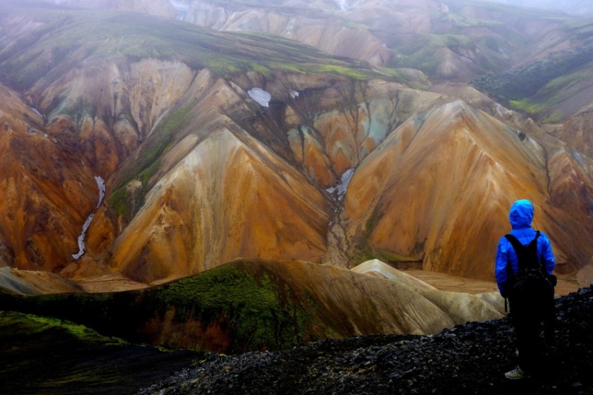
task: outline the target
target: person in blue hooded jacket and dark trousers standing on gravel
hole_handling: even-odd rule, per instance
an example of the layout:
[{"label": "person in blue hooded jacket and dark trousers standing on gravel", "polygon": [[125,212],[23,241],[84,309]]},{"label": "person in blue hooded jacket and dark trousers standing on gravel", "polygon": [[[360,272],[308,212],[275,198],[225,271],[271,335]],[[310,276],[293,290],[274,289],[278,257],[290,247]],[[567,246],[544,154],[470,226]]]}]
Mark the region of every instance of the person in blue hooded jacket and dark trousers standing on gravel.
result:
[{"label": "person in blue hooded jacket and dark trousers standing on gravel", "polygon": [[[528,245],[536,236],[537,232],[532,229],[531,224],[534,216],[533,205],[529,200],[517,200],[510,207],[508,218],[510,225],[513,228],[510,234],[515,236],[522,245]],[[541,265],[544,266],[546,274],[553,278],[552,271],[554,269],[555,260],[552,253],[552,248],[548,236],[544,233],[539,233],[537,239],[537,256]],[[504,298],[508,298],[510,303],[510,317],[515,329],[515,336],[517,338],[517,352],[519,356],[519,364],[515,369],[505,373],[508,379],[521,379],[529,372],[537,370],[538,363],[541,360],[543,352],[543,344],[541,344],[541,319],[533,317],[529,314],[530,309],[520,308],[520,301],[514,300],[510,295],[510,279],[507,267],[513,270],[514,274],[518,272],[517,254],[513,249],[513,245],[507,238],[502,237],[498,242],[496,250],[496,282],[498,290]],[[553,286],[551,284],[551,292],[553,298]],[[513,309],[515,305],[515,308]],[[544,318],[546,339],[553,341],[553,305],[549,309],[549,315]]]}]

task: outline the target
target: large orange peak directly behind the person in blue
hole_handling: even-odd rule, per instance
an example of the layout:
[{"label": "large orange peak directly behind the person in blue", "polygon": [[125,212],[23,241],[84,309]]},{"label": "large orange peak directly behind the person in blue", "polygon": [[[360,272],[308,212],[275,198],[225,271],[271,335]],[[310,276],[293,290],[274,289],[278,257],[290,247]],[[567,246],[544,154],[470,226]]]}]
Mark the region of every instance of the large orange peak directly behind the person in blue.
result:
[{"label": "large orange peak directly behind the person in blue", "polygon": [[465,102],[445,104],[405,122],[359,166],[349,186],[358,193],[345,203],[349,236],[366,238],[392,262],[493,279],[498,238],[510,231],[508,207],[528,198],[534,228],[557,241],[558,271],[571,272],[582,260],[560,241],[568,234],[584,241],[566,214],[552,214],[547,196],[563,180],[548,174],[544,148],[531,138]]}]

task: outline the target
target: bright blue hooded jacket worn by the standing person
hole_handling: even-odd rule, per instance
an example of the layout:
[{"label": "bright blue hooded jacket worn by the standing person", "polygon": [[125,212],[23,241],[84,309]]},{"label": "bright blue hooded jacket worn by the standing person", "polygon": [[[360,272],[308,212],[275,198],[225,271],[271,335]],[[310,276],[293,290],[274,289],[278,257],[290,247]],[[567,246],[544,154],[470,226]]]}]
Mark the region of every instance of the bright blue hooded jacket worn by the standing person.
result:
[{"label": "bright blue hooded jacket worn by the standing person", "polygon": [[[522,245],[529,244],[536,235],[531,227],[533,220],[533,205],[529,200],[517,200],[510,207],[508,214],[510,226],[513,228],[510,234],[515,236]],[[552,247],[550,239],[544,233],[539,233],[537,239],[537,257],[539,262],[543,262],[546,272],[552,274],[556,261],[552,253]],[[498,290],[503,292],[502,284],[508,279],[506,267],[510,262],[513,272],[515,274],[519,271],[517,255],[513,250],[513,245],[510,244],[505,237],[502,237],[498,241],[498,248],[496,250],[496,283],[498,284]]]}]

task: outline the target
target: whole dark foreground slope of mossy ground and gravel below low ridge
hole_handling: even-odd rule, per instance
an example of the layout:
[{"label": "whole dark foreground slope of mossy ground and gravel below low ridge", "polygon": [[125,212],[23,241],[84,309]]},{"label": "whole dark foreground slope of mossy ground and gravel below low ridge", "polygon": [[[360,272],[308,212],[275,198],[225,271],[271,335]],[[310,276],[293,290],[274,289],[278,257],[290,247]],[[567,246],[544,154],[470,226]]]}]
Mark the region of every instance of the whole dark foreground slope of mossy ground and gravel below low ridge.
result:
[{"label": "whole dark foreground slope of mossy ground and gravel below low ridge", "polygon": [[431,336],[357,336],[224,356],[133,346],[71,322],[13,312],[0,312],[6,356],[0,379],[3,391],[18,394],[586,394],[592,303],[591,288],[556,301],[557,346],[547,356],[549,369],[520,382],[502,374],[516,358],[506,318]]}]

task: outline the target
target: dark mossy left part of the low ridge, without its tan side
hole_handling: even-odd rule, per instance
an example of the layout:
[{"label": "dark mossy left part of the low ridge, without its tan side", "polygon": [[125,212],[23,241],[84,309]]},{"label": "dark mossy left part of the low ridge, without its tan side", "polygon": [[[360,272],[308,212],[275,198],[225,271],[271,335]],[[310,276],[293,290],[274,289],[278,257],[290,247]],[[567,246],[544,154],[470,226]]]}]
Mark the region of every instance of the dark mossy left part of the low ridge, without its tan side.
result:
[{"label": "dark mossy left part of the low ridge, without its tan side", "polygon": [[58,317],[136,343],[237,353],[288,348],[335,334],[313,300],[251,265],[225,265],[142,291],[0,294],[0,310]]}]

